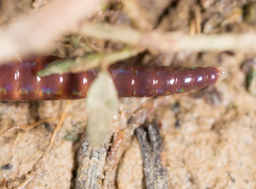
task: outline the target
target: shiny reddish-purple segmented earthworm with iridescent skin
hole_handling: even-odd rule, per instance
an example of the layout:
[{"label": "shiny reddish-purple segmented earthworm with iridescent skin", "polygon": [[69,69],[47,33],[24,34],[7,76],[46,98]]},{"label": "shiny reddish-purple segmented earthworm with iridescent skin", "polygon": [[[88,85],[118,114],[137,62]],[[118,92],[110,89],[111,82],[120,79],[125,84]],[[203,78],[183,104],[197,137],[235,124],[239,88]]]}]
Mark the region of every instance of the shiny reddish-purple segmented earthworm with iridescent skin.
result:
[{"label": "shiny reddish-purple segmented earthworm with iridescent skin", "polygon": [[[0,100],[60,100],[80,99],[97,75],[97,69],[77,74],[55,74],[36,77],[35,74],[58,57],[17,61],[0,66]],[[171,68],[159,66],[111,65],[119,97],[166,96],[189,92],[215,84],[220,70],[215,67]]]}]

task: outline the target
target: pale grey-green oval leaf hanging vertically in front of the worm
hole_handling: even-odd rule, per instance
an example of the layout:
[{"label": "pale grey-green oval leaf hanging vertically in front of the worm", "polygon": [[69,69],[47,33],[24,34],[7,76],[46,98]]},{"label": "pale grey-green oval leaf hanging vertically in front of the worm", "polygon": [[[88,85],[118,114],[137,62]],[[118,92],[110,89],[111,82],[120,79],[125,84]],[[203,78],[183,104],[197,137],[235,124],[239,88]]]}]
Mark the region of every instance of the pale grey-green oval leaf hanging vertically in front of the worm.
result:
[{"label": "pale grey-green oval leaf hanging vertically in front of the worm", "polygon": [[117,106],[118,95],[111,75],[99,72],[87,95],[87,135],[92,148],[98,147],[107,136]]}]

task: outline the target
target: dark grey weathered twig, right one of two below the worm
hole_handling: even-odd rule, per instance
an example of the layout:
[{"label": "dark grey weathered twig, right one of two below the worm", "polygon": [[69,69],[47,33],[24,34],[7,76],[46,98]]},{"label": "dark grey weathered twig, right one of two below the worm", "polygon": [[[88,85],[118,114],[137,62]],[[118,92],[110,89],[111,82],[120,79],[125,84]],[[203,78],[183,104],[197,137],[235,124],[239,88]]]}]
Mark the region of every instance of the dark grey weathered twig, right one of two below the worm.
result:
[{"label": "dark grey weathered twig, right one of two below the worm", "polygon": [[136,129],[143,158],[143,171],[147,189],[168,188],[167,169],[161,164],[162,138],[158,127],[146,123]]}]

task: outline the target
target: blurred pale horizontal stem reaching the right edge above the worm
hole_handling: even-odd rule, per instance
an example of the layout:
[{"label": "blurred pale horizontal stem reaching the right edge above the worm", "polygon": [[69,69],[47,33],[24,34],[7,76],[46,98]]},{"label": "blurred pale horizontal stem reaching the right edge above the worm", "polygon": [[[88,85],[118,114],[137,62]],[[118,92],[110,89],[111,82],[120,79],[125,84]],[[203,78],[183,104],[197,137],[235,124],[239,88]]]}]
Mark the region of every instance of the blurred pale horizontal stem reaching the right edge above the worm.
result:
[{"label": "blurred pale horizontal stem reaching the right edge above the worm", "polygon": [[193,35],[179,32],[136,31],[127,26],[108,23],[84,23],[77,31],[87,37],[119,41],[161,52],[170,51],[256,51],[256,33]]}]

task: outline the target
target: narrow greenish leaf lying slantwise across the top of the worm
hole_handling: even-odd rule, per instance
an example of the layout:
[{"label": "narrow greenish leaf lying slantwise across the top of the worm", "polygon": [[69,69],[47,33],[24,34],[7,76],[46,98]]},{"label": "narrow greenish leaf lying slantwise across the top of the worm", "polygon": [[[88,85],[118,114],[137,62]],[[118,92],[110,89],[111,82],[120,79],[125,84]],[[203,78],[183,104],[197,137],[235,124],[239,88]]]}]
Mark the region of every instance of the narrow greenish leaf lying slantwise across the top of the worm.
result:
[{"label": "narrow greenish leaf lying slantwise across the top of the worm", "polygon": [[99,67],[101,66],[101,63],[105,64],[104,66],[109,66],[116,61],[135,56],[136,54],[143,52],[143,50],[144,49],[134,49],[127,46],[119,52],[95,53],[79,58],[79,60],[57,60],[38,72],[37,76],[43,77],[50,74],[63,74],[65,72],[83,72],[88,69]]}]

